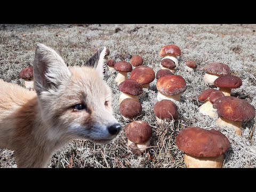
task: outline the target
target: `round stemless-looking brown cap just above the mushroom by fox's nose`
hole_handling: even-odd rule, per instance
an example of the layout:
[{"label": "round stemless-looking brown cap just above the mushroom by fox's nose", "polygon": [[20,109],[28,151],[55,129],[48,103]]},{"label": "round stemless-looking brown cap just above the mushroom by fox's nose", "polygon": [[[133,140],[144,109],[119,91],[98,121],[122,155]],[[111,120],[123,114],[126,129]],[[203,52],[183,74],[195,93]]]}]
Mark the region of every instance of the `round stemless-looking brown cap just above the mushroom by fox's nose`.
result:
[{"label": "round stemless-looking brown cap just above the mushroom by fox's nose", "polygon": [[133,118],[141,115],[142,107],[139,101],[132,98],[126,98],[120,103],[119,111],[124,117]]}]

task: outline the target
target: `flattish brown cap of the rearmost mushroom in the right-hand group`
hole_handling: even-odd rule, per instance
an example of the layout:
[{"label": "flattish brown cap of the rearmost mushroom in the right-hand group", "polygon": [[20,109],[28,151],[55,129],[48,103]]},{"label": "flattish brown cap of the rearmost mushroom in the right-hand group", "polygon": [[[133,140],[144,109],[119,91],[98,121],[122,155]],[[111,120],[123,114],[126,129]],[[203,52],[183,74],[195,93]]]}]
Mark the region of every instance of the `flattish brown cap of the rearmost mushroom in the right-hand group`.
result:
[{"label": "flattish brown cap of the rearmost mushroom in the right-hand group", "polygon": [[229,75],[231,73],[230,68],[220,62],[212,62],[204,66],[206,73],[217,74],[217,75]]}]

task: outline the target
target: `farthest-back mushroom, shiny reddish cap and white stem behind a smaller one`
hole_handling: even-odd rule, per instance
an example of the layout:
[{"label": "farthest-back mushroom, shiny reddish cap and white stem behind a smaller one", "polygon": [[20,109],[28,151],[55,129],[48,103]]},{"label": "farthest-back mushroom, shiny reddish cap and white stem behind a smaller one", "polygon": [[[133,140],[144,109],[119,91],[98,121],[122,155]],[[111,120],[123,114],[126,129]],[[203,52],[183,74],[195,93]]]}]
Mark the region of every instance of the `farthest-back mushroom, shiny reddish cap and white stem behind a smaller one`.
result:
[{"label": "farthest-back mushroom, shiny reddish cap and white stem behind a smaller one", "polygon": [[162,49],[159,52],[159,55],[163,59],[171,59],[175,66],[179,66],[179,61],[177,59],[177,56],[181,55],[180,48],[177,45],[165,45],[162,47]]}]

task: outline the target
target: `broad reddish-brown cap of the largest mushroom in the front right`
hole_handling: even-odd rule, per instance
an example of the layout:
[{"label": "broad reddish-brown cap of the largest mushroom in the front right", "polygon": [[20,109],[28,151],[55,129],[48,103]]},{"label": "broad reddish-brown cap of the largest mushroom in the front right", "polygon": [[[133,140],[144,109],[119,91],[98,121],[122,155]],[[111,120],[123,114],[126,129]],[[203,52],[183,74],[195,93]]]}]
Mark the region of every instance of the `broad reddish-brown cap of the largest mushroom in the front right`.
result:
[{"label": "broad reddish-brown cap of the largest mushroom in the front right", "polygon": [[217,157],[230,147],[226,135],[217,130],[187,127],[179,132],[176,145],[184,153],[196,157]]}]

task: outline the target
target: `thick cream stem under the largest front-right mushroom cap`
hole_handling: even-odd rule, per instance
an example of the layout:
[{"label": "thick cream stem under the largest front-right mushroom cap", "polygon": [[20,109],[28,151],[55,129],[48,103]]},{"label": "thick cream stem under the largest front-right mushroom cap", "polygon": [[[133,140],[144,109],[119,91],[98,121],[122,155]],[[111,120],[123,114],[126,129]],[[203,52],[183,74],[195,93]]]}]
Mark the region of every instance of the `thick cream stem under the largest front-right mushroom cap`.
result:
[{"label": "thick cream stem under the largest front-right mushroom cap", "polygon": [[224,155],[217,157],[195,157],[188,154],[184,155],[184,162],[187,168],[221,168]]}]

